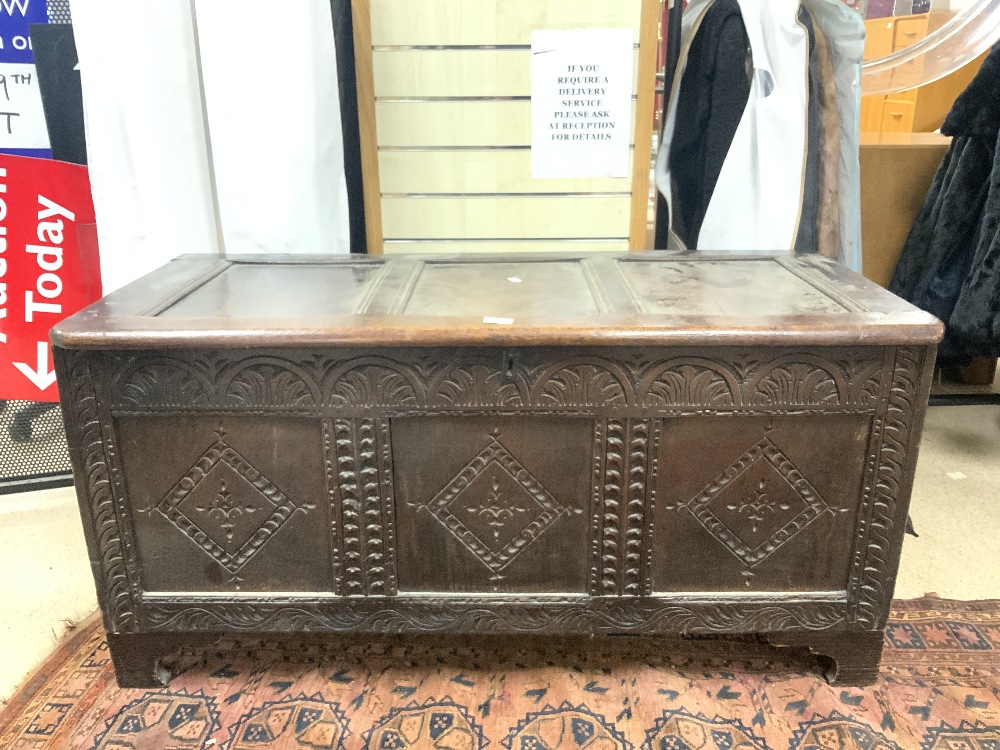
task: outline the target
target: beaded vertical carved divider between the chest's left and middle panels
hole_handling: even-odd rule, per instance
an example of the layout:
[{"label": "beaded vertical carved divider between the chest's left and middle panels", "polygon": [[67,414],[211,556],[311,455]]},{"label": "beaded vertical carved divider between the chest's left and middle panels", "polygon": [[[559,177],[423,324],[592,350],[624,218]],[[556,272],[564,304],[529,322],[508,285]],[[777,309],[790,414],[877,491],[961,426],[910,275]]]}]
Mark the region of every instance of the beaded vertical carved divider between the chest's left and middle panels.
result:
[{"label": "beaded vertical carved divider between the chest's left and middle panels", "polygon": [[[383,420],[328,423],[327,487],[339,539],[339,592],[344,596],[396,593],[389,435]],[[332,440],[332,445],[330,442]]]}]

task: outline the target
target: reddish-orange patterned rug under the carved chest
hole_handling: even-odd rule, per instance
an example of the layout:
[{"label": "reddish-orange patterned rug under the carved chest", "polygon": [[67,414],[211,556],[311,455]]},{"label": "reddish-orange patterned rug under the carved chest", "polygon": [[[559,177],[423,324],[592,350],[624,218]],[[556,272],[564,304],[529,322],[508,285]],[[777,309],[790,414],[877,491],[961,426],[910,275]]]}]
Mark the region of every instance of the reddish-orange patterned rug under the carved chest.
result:
[{"label": "reddish-orange patterned rug under the carved chest", "polygon": [[282,639],[120,690],[94,620],[0,714],[0,748],[1000,750],[1000,602],[896,602],[882,677],[752,642]]}]

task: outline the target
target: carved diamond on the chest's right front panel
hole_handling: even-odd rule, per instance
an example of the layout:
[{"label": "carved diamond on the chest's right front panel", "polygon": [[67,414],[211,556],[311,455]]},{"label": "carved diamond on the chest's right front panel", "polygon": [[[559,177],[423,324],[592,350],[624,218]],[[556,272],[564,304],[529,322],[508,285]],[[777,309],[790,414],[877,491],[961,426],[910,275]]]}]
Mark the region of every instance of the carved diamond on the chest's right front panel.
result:
[{"label": "carved diamond on the chest's right front panel", "polygon": [[748,567],[762,562],[830,509],[766,437],[687,503],[687,508]]}]

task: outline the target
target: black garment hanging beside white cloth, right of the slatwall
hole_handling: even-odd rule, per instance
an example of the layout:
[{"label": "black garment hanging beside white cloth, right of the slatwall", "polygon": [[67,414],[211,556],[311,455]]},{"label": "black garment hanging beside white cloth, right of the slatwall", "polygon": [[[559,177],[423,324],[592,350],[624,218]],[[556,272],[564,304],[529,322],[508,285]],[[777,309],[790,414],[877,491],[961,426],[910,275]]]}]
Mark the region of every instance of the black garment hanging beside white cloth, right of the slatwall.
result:
[{"label": "black garment hanging beside white cloth, right of the slatwall", "polygon": [[750,39],[736,0],[718,0],[691,41],[670,146],[675,233],[697,247],[712,193],[750,98]]}]

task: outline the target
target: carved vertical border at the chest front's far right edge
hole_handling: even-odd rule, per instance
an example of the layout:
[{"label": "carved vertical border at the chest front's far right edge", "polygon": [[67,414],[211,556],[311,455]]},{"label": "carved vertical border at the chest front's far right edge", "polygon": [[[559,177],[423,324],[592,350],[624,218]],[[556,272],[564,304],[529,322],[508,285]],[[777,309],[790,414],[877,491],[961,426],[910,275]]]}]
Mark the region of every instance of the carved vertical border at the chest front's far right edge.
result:
[{"label": "carved vertical border at the chest front's far right edge", "polygon": [[864,628],[884,627],[888,617],[913,484],[913,453],[926,408],[927,356],[933,359],[908,347],[887,355],[892,379],[883,386],[875,416],[859,524],[861,562],[852,571],[851,620]]}]

